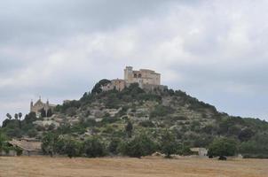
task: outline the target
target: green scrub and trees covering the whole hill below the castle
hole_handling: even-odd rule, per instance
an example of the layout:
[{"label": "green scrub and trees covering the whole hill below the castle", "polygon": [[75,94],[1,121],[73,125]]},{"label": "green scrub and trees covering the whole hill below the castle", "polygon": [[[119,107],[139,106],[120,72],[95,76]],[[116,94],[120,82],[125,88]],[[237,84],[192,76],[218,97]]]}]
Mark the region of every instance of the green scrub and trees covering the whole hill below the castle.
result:
[{"label": "green scrub and trees covering the whole hill below the castle", "polygon": [[70,158],[118,154],[139,158],[155,151],[169,158],[190,155],[192,147],[209,148],[209,156],[214,157],[237,153],[246,158],[268,157],[264,120],[217,112],[181,90],[145,91],[132,84],[121,92],[102,92],[109,82],[99,81],[81,99],[58,105],[50,119],[60,119],[58,127],[36,125],[35,120],[49,118],[36,118],[30,112],[22,120],[19,114],[15,119],[7,115],[1,131],[9,138],[36,137],[43,142],[45,154]]}]

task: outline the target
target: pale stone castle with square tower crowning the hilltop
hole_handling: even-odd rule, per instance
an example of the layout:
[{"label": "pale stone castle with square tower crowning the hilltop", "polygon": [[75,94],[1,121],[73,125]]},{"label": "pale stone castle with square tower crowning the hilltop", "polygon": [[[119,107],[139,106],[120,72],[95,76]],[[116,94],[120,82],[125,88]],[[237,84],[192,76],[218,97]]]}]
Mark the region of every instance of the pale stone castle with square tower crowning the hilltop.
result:
[{"label": "pale stone castle with square tower crowning the hilltop", "polygon": [[121,91],[125,87],[129,87],[131,83],[138,83],[141,89],[154,90],[166,89],[166,86],[161,85],[161,74],[155,73],[153,70],[140,69],[139,71],[133,70],[133,67],[127,66],[124,69],[124,79],[115,79],[111,83],[102,87],[103,91],[117,89]]}]

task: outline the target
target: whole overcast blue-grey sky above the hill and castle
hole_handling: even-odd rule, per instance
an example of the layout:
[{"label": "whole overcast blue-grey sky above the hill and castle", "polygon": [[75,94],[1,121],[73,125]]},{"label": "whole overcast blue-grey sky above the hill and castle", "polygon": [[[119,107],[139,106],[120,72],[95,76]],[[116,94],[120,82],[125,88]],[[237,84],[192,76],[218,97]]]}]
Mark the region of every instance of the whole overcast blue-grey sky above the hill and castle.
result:
[{"label": "whole overcast blue-grey sky above the hill and castle", "polygon": [[220,112],[268,120],[268,1],[2,0],[0,121],[78,99],[126,65]]}]

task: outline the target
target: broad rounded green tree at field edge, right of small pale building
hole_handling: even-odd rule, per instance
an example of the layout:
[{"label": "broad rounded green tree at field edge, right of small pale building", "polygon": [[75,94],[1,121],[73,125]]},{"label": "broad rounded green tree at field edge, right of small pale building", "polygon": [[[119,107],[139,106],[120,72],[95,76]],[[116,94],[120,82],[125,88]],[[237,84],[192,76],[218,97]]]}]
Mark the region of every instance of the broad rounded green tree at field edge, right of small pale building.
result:
[{"label": "broad rounded green tree at field edge, right of small pale building", "polygon": [[229,138],[217,138],[209,145],[209,157],[219,157],[219,159],[234,156],[237,152],[237,143]]}]

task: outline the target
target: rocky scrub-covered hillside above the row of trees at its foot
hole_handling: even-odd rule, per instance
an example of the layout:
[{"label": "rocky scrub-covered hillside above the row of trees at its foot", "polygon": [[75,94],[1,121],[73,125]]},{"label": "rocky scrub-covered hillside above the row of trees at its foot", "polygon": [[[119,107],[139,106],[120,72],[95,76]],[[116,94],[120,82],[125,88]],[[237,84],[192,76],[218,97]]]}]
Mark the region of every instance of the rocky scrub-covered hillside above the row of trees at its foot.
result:
[{"label": "rocky scrub-covered hillside above the row of trees at its foot", "polygon": [[[129,138],[141,134],[160,142],[169,130],[174,141],[184,147],[181,150],[206,148],[215,138],[227,137],[238,142],[240,153],[253,157],[268,154],[268,123],[264,120],[217,112],[215,106],[181,90],[145,90],[138,83],[122,90],[102,90],[108,83],[109,80],[101,80],[79,100],[57,105],[50,117],[37,118],[35,112],[30,112],[19,123],[16,123],[18,119],[4,120],[1,129],[9,137],[29,136],[40,140],[47,133],[71,136],[79,141],[98,136],[106,144],[114,139],[128,142]],[[126,132],[128,126],[131,135]]]}]

